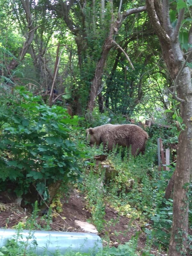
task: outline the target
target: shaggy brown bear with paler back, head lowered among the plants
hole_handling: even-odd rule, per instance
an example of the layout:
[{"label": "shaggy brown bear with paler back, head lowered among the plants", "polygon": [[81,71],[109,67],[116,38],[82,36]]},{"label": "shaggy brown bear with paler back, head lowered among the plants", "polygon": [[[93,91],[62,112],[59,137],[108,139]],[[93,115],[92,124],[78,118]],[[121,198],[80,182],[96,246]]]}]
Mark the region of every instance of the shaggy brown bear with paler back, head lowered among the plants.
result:
[{"label": "shaggy brown bear with paler back, head lowered among the plants", "polygon": [[148,134],[135,124],[103,124],[87,129],[86,138],[91,147],[103,143],[104,149],[108,152],[116,144],[124,147],[131,145],[131,153],[136,156],[140,152],[144,154]]}]

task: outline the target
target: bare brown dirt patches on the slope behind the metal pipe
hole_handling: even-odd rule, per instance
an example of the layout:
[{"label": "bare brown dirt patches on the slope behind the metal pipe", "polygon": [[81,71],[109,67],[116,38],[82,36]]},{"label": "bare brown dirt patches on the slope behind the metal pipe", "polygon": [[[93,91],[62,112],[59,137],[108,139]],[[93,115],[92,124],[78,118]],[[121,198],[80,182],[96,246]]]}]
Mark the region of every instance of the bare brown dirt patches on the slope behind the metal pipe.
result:
[{"label": "bare brown dirt patches on the slope behind the metal pipe", "polygon": [[[13,198],[8,196],[6,193],[1,193],[0,195],[0,228],[14,228],[18,222],[25,223],[27,216],[31,215],[28,210],[19,207],[13,202]],[[91,214],[85,209],[84,198],[78,193],[77,190],[71,192],[70,197],[62,200],[62,209],[59,215],[54,214],[52,223],[50,224],[51,230],[55,231],[65,231],[65,232],[84,232],[80,227],[75,224],[75,220],[87,221]],[[138,250],[140,255],[145,251],[146,246],[146,235],[142,231],[139,222],[132,222],[130,225],[130,219],[124,216],[118,216],[115,209],[106,206],[105,209],[105,221],[103,232],[98,235],[103,238],[103,245],[108,242],[111,246],[118,246],[119,244],[124,244],[128,242],[132,236],[135,236],[137,231],[140,231],[138,240]],[[63,218],[64,217],[64,218]],[[38,217],[38,224],[43,228],[44,220],[41,220],[41,216]],[[112,225],[108,225],[111,220]],[[108,239],[109,240],[108,240]],[[108,240],[108,241],[107,241]],[[158,252],[158,248],[152,248],[151,253],[154,255],[167,255],[166,252]]]}]

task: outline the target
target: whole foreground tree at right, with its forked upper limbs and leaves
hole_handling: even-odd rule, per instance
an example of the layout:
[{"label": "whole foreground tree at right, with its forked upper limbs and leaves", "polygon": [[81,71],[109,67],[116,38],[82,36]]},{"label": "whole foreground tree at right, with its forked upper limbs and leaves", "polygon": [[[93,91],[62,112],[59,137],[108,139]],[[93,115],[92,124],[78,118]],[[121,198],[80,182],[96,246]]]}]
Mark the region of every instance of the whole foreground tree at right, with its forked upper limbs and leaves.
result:
[{"label": "whole foreground tree at right, with its forked upper limbs and leaves", "polygon": [[[168,90],[172,97],[180,102],[181,118],[178,121],[185,125],[179,135],[177,165],[174,174],[173,223],[169,256],[185,254],[188,235],[188,189],[192,169],[192,84],[190,68],[186,66],[186,63],[191,56],[191,42],[188,42],[189,49],[186,49],[183,42],[179,42],[179,33],[180,31],[182,33],[181,26],[185,26],[185,30],[189,33],[189,40],[191,38],[191,24],[184,20],[185,15],[189,16],[190,6],[187,2],[177,1],[177,6],[175,6],[174,1],[169,4],[169,0],[146,0],[150,21],[159,38],[164,61],[174,81],[173,86]],[[174,27],[172,19],[175,19]],[[188,20],[191,22],[192,19]],[[190,52],[184,54],[184,50],[190,50]]]}]

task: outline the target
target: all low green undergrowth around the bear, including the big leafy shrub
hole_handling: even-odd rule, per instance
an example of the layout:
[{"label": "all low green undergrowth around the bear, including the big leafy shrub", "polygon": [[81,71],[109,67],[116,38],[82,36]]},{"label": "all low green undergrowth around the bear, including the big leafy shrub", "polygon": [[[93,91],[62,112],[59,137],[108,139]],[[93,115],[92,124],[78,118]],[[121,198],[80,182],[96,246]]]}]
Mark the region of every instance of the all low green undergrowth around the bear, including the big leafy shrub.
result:
[{"label": "all low green undergrowth around the bear, including the big leafy shrub", "polygon": [[[20,223],[18,236],[0,249],[0,255],[36,255],[34,248],[26,250],[25,244],[18,243],[22,228],[29,230],[42,229],[36,223],[37,204],[26,198],[31,186],[35,187],[43,201],[49,202],[50,185],[58,184],[66,190],[68,184],[75,186],[84,195],[92,222],[99,232],[105,233],[105,225],[113,221],[104,220],[105,206],[110,205],[119,216],[130,219],[129,226],[134,227],[134,220],[140,223],[147,236],[147,248],[142,255],[150,254],[151,246],[159,250],[168,248],[172,226],[172,199],[165,200],[164,193],[174,172],[175,164],[170,171],[158,171],[156,139],[161,136],[164,143],[175,143],[177,136],[174,129],[161,129],[155,126],[148,130],[145,155],[132,157],[122,148],[116,148],[108,154],[107,159],[96,164],[93,156],[103,154],[100,148],[88,148],[85,144],[84,126],[88,124],[77,116],[70,118],[66,110],[59,106],[48,107],[40,97],[25,92],[23,88],[15,90],[12,96],[1,98],[0,107],[0,190],[8,189],[14,184],[17,196],[25,198],[25,203],[34,205],[32,217],[25,226]],[[108,122],[108,117],[96,120],[96,123]],[[114,123],[115,120],[113,120]],[[107,167],[106,167],[107,166]],[[37,195],[38,195],[37,194]],[[25,195],[25,197],[24,197]],[[53,195],[54,196],[54,195]],[[59,211],[60,193],[55,194],[52,207]],[[38,196],[37,196],[38,198]],[[28,199],[28,200],[27,200]],[[192,204],[190,201],[189,226],[192,223]],[[45,218],[44,230],[50,229],[51,211]],[[99,255],[138,255],[138,234],[129,243],[118,248],[106,247]],[[106,234],[107,240],[107,234]],[[188,250],[191,237],[189,236]],[[22,245],[22,249],[21,249]],[[34,247],[36,243],[34,242]],[[45,254],[46,255],[46,252]],[[55,255],[61,255],[55,252]],[[92,255],[91,253],[73,252],[68,255]]]}]

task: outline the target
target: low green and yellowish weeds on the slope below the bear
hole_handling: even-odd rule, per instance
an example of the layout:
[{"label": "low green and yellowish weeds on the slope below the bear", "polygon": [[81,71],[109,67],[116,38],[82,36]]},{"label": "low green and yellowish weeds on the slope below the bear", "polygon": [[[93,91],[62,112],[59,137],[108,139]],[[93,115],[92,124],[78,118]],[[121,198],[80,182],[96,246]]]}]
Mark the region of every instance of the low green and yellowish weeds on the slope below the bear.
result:
[{"label": "low green and yellowish weeds on the slope below the bear", "polygon": [[[121,152],[114,151],[99,167],[91,166],[85,170],[80,189],[86,195],[87,208],[99,232],[104,224],[101,216],[105,215],[105,204],[109,204],[131,222],[139,221],[147,236],[156,245],[161,241],[165,248],[172,224],[172,199],[166,201],[164,192],[174,168],[169,172],[158,172],[153,146],[149,141],[146,154],[136,158],[130,156],[127,159],[125,154],[122,159]],[[111,168],[110,177],[102,167],[106,165]]]}]

